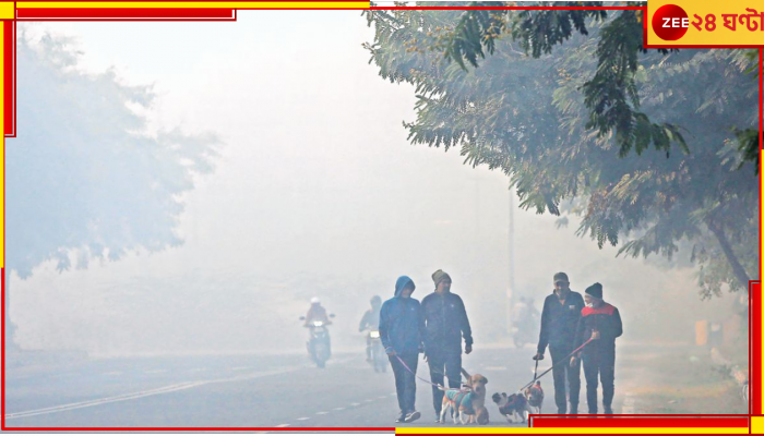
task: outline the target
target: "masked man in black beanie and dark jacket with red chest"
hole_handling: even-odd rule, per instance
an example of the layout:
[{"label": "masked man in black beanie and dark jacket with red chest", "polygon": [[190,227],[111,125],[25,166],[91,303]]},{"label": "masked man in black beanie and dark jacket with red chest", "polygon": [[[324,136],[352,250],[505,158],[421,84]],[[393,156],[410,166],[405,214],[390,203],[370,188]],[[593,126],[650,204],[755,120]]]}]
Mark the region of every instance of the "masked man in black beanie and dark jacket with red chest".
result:
[{"label": "masked man in black beanie and dark jacket with red chest", "polygon": [[602,380],[602,409],[605,414],[612,414],[612,397],[616,390],[616,338],[623,334],[621,314],[618,308],[602,300],[602,286],[594,283],[586,288],[584,299],[586,307],[581,311],[576,328],[575,343],[581,347],[592,338],[577,355],[571,358],[571,364],[577,365],[578,358],[584,358],[584,376],[586,377],[586,402],[589,414],[597,414],[597,375]]}]

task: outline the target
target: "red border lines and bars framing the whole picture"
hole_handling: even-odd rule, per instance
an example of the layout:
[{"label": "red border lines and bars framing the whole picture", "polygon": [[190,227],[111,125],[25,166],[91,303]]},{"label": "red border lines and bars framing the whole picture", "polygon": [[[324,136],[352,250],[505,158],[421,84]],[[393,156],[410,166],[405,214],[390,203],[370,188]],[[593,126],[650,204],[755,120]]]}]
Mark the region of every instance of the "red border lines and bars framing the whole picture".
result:
[{"label": "red border lines and bars framing the whole picture", "polygon": [[[85,1],[96,1],[96,0],[85,0]],[[174,0],[170,0],[174,1]],[[183,0],[175,0],[183,1]],[[202,0],[190,0],[190,1],[202,1]],[[15,1],[14,1],[15,8]],[[514,7],[514,8],[503,8],[503,7],[481,7],[481,8],[417,8],[417,7],[406,7],[406,8],[385,8],[385,7],[374,7],[368,8],[371,10],[642,10],[643,11],[643,26],[644,26],[644,39],[643,45],[645,48],[662,48],[660,46],[648,46],[647,45],[647,8],[646,7],[598,7],[598,8],[584,8],[584,7]],[[46,8],[37,9],[37,12],[45,13],[32,13],[33,9],[22,9],[24,11],[19,13],[16,11],[15,20],[8,20],[4,22],[4,66],[3,74],[4,81],[4,119],[3,119],[3,130],[5,137],[16,137],[16,64],[15,64],[15,37],[16,37],[16,21],[237,21],[238,10],[367,10],[367,8],[238,8],[238,9],[193,9],[193,8],[162,8],[162,9],[131,9],[131,8],[115,8],[115,9],[104,9],[104,8],[79,8],[75,11],[76,14],[71,11],[72,9],[67,8]],[[204,11],[217,11],[214,16],[207,14],[202,14],[200,10]],[[139,12],[135,16],[135,12]],[[156,12],[162,12],[157,14]],[[223,17],[220,11],[232,12],[232,17]],[[83,14],[83,12],[85,12]],[[107,16],[106,12],[110,12]],[[172,12],[172,13],[170,13]],[[762,97],[764,96],[764,45],[761,46],[671,46],[670,48],[757,48],[759,49],[759,87],[760,87],[760,101],[759,101],[759,134],[760,134],[760,157],[762,154],[762,145],[764,144],[764,133],[762,132],[762,126],[764,125],[764,106],[762,104]],[[4,153],[4,150],[3,150]],[[761,161],[761,159],[760,159]],[[764,165],[764,162],[762,162]],[[4,160],[3,160],[4,169]],[[3,171],[4,178],[4,171]],[[762,173],[759,173],[759,182],[761,186]],[[3,184],[4,190],[4,184]],[[4,196],[3,196],[4,204]],[[3,207],[4,209],[4,207]],[[762,247],[761,242],[761,211],[762,205],[760,201],[760,253]],[[4,220],[3,220],[3,234],[4,234]],[[4,240],[3,240],[3,252],[4,252]],[[761,271],[760,271],[761,274]],[[0,343],[2,344],[2,361],[0,362],[0,368],[2,374],[0,375],[1,395],[0,395],[0,429],[2,431],[81,431],[81,432],[98,432],[98,431],[241,431],[241,432],[252,432],[252,431],[267,431],[267,432],[311,432],[311,431],[334,431],[334,432],[394,432],[395,427],[7,427],[5,426],[5,323],[4,323],[4,293],[5,293],[5,269],[0,268],[0,289],[2,292],[2,301],[0,302],[0,308],[2,308],[2,314],[0,314],[0,320],[2,320],[2,326],[0,326]],[[762,294],[761,294],[761,281],[751,281],[749,283],[749,303],[751,305],[749,311],[751,331],[749,335],[749,383],[751,385],[750,393],[750,404],[749,404],[749,415],[611,415],[613,419],[602,419],[601,415],[575,415],[574,420],[571,420],[571,415],[533,415],[528,420],[528,425],[536,423],[536,427],[634,427],[634,423],[638,422],[640,427],[708,427],[708,422],[703,425],[687,425],[684,421],[692,419],[693,422],[696,421],[711,421],[714,425],[712,427],[717,428],[740,428],[748,426],[749,434],[750,419],[751,416],[762,415]],[[754,413],[759,412],[759,413]],[[625,421],[631,421],[626,424]],[[745,421],[745,425],[741,423]],[[541,425],[538,425],[541,423]]]}]

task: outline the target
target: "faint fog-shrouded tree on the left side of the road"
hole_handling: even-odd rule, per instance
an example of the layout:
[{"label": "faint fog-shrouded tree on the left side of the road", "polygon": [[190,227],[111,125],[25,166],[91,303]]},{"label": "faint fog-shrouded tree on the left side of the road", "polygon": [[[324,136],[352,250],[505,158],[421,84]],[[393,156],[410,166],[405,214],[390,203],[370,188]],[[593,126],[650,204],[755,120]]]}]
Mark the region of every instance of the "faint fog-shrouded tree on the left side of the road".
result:
[{"label": "faint fog-shrouded tree on the left side of the road", "polygon": [[146,133],[147,119],[130,107],[148,108],[152,89],[126,86],[114,71],[82,73],[70,43],[19,38],[19,137],[5,146],[5,262],[21,278],[47,261],[63,271],[72,257],[85,268],[91,259],[180,244],[180,196],[193,189],[194,174],[213,170],[216,155],[212,134]]}]

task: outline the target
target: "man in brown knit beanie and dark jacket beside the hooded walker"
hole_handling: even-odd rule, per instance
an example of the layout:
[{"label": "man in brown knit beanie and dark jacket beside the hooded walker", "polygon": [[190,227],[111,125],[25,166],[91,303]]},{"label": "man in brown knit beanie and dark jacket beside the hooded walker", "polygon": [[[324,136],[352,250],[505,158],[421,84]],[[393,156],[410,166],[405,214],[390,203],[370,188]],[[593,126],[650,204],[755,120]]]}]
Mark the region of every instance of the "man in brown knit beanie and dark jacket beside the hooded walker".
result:
[{"label": "man in brown knit beanie and dark jacket beside the hooded walker", "polygon": [[[425,316],[425,356],[430,366],[432,383],[443,385],[443,375],[449,377],[449,387],[462,386],[462,336],[464,352],[473,352],[473,331],[462,299],[451,293],[451,277],[439,269],[432,274],[435,283],[433,293],[421,301]],[[440,420],[443,391],[432,387],[432,405],[435,420]]]}]

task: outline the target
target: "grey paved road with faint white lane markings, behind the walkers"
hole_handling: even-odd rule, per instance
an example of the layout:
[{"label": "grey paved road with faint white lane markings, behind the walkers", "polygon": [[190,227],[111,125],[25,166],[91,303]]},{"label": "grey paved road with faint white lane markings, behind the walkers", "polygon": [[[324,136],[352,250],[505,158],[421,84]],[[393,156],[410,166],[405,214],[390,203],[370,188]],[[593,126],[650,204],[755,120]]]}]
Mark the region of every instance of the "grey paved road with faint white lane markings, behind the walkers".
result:
[{"label": "grey paved road with faint white lane markings, behind the walkers", "polygon": [[[464,367],[489,379],[489,396],[514,391],[533,377],[532,354],[476,348]],[[552,412],[551,375],[544,382]],[[491,425],[510,425],[488,403]],[[417,408],[408,425],[435,426],[423,383]],[[144,358],[9,368],[5,412],[9,427],[393,427],[397,400],[392,372],[375,374],[361,352],[324,370],[301,354]]]}]

